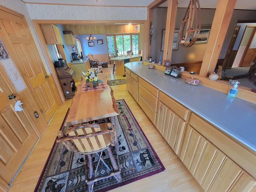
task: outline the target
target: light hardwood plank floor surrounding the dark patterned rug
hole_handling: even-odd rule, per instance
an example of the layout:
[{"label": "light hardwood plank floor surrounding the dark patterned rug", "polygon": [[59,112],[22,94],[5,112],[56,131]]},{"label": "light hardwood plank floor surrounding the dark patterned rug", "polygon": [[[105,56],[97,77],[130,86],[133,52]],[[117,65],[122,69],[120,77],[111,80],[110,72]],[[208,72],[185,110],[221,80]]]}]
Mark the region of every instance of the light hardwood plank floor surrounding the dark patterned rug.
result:
[{"label": "light hardwood plank floor surrounding the dark patterned rug", "polygon": [[[124,78],[112,74],[113,65],[103,68],[108,76],[108,80]],[[154,124],[148,119],[140,106],[135,102],[130,93],[126,91],[126,84],[112,86],[116,100],[124,99],[136,120],[140,124],[146,137],[152,144],[166,170],[153,176],[132,182],[120,188],[111,190],[112,192],[203,192],[204,190],[190,174],[178,156],[170,148],[158,132]],[[50,121],[42,138],[38,141],[30,156],[24,163],[18,176],[16,176],[9,192],[32,192],[36,187],[38,178],[44,168],[45,162],[56,139],[56,133],[60,129],[67,109],[70,107],[72,99],[63,102],[56,114]]]}]

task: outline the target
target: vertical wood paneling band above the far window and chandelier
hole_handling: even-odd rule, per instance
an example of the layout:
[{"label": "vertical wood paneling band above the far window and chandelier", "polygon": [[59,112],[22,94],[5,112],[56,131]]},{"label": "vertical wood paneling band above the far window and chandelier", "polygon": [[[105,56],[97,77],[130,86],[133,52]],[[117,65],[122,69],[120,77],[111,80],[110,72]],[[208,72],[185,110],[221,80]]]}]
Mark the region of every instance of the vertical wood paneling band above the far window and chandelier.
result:
[{"label": "vertical wood paneling band above the far window and chandelier", "polygon": [[115,33],[139,33],[135,30],[136,25],[64,25],[66,31],[72,31],[74,35],[81,34],[115,34]]}]

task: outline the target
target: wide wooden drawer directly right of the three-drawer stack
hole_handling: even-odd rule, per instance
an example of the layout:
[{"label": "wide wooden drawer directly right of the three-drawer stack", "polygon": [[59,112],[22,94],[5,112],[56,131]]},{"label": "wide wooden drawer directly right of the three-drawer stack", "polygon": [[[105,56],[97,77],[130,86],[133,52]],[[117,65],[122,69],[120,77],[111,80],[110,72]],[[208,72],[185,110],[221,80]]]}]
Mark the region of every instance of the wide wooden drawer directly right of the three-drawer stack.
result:
[{"label": "wide wooden drawer directly right of the three-drawer stack", "polygon": [[159,100],[162,101],[168,108],[170,108],[174,113],[176,113],[180,118],[186,120],[188,118],[189,110],[164,94],[159,92]]}]

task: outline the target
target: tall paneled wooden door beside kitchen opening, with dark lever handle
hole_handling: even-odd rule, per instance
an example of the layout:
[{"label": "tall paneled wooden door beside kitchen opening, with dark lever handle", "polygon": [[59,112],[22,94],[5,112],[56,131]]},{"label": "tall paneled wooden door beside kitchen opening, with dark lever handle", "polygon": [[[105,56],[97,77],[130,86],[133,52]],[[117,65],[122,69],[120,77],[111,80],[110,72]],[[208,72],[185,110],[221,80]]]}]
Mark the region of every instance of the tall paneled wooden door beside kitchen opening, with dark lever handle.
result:
[{"label": "tall paneled wooden door beside kitchen opening, with dark lever handle", "polygon": [[12,60],[24,77],[24,82],[32,92],[44,119],[48,122],[58,108],[54,95],[56,89],[52,88],[50,80],[46,78],[48,77],[46,70],[26,20],[21,16],[0,10],[0,26],[5,42],[9,45]]}]

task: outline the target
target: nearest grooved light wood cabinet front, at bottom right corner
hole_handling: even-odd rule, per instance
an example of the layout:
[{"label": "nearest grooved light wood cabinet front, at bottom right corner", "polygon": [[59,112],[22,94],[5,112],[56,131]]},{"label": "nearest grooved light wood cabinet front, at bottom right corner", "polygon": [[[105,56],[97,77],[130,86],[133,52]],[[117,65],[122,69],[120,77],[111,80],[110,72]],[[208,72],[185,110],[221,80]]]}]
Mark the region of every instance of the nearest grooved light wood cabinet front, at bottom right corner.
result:
[{"label": "nearest grooved light wood cabinet front, at bottom right corner", "polygon": [[206,192],[250,191],[256,184],[240,166],[190,125],[178,156]]}]

